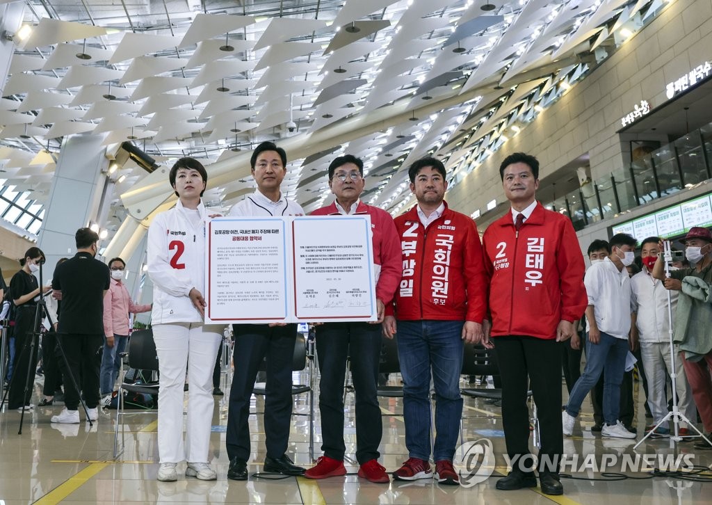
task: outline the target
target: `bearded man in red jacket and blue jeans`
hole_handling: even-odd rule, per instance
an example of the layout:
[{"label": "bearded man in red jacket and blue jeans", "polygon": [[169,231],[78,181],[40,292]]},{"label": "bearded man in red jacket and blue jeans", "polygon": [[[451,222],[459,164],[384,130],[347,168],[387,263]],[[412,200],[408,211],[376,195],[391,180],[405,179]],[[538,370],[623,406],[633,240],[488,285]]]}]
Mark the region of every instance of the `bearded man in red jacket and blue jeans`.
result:
[{"label": "bearded man in red jacket and blue jeans", "polygon": [[[403,249],[403,276],[395,307],[387,307],[384,334],[397,331],[403,376],[408,460],[398,480],[430,479],[459,484],[452,467],[462,397],[459,380],[464,341],[482,338],[486,274],[475,222],[447,207],[445,167],[424,158],[408,170],[418,204],[395,219]],[[397,320],[397,322],[396,322]],[[430,377],[435,385],[435,443],[430,459]]]}]

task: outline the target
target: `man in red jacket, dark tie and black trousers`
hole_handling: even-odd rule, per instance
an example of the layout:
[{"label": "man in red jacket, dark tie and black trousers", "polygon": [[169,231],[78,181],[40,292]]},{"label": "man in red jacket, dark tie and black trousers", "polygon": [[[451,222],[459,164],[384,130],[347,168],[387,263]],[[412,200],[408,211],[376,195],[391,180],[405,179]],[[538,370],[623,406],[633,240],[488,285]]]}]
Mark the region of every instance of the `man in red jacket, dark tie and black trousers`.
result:
[{"label": "man in red jacket, dark tie and black trousers", "polygon": [[[536,487],[529,452],[528,381],[541,434],[539,479],[545,494],[562,494],[561,354],[557,342],[574,333],[588,303],[585,264],[567,217],[536,201],[539,162],[517,152],[500,167],[511,212],[483,236],[491,336],[502,378],[502,424],[512,471],[497,481],[505,491]],[[487,324],[486,330],[487,330]],[[487,331],[484,343],[488,344]]]}]

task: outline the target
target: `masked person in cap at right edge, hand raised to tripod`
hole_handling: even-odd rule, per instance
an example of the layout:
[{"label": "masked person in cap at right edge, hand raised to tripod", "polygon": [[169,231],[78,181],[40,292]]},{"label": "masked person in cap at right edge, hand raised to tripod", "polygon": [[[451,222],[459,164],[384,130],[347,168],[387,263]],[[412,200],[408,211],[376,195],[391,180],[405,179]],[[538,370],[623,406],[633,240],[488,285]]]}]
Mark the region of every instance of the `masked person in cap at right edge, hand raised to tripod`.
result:
[{"label": "masked person in cap at right edge, hand raised to tripod", "polygon": [[[653,277],[664,281],[665,287],[679,291],[675,314],[675,341],[681,356],[692,395],[700,413],[704,430],[712,437],[712,232],[692,227],[683,239],[685,256],[694,264],[665,276],[664,261],[658,256]],[[662,248],[662,244],[661,244]],[[696,449],[712,449],[705,439]]]}]

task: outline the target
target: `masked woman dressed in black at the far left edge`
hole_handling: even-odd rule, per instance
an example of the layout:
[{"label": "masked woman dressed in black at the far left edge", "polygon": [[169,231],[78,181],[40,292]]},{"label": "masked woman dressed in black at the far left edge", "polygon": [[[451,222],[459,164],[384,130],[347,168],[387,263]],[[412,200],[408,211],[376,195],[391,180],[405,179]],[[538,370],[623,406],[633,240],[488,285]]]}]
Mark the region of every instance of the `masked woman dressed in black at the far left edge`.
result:
[{"label": "masked woman dressed in black at the far left edge", "polygon": [[31,370],[31,378],[35,376],[37,368],[37,345],[30,353],[35,311],[37,310],[36,297],[42,292],[49,291],[48,286],[40,288],[37,278],[33,275],[39,270],[39,265],[44,263],[44,253],[38,247],[31,247],[20,260],[22,268],[10,280],[10,296],[15,304],[15,358],[13,370],[15,379],[12,381],[8,397],[8,408],[30,410],[34,405],[30,403],[32,391],[25,391],[27,370]]}]

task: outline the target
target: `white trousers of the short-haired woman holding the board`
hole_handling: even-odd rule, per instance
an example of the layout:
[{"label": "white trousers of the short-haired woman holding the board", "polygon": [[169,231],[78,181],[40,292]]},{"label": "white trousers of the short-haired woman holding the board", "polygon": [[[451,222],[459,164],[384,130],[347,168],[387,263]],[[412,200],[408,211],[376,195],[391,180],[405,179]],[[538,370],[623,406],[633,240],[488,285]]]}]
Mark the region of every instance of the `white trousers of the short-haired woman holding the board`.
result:
[{"label": "white trousers of the short-haired woman holding the board", "polygon": [[[213,368],[224,326],[153,326],[159,368],[158,456],[161,463],[207,463],[213,419]],[[183,399],[188,369],[188,415],[183,444]]]}]

